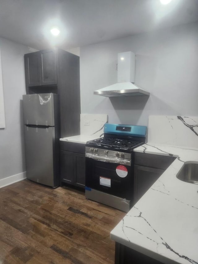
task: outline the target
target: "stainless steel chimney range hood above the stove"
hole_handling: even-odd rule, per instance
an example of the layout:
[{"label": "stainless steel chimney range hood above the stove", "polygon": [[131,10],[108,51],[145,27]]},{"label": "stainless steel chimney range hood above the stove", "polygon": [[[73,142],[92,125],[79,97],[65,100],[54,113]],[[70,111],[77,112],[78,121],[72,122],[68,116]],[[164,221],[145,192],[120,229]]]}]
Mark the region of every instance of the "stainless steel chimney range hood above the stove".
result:
[{"label": "stainless steel chimney range hood above the stove", "polygon": [[94,94],[107,97],[149,95],[134,84],[135,60],[136,55],[131,51],[118,53],[118,83],[94,91]]}]

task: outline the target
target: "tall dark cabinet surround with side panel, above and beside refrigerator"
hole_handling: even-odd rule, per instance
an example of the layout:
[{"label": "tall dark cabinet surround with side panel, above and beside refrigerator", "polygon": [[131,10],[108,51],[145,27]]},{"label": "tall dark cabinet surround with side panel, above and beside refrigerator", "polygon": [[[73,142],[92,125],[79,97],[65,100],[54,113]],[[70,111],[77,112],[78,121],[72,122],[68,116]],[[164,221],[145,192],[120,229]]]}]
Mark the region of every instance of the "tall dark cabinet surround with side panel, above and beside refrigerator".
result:
[{"label": "tall dark cabinet surround with side panel, above and beside refrigerator", "polygon": [[52,48],[24,55],[26,93],[57,93],[60,137],[80,134],[80,57]]}]

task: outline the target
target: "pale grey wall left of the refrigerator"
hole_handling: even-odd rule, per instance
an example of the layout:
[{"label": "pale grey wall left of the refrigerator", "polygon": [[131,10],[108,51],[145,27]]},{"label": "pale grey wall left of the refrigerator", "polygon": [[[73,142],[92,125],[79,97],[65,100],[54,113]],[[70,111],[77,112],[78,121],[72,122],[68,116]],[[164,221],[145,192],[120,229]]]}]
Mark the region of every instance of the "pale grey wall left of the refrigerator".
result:
[{"label": "pale grey wall left of the refrigerator", "polygon": [[25,94],[24,54],[35,50],[3,38],[0,48],[6,119],[6,128],[0,129],[1,180],[25,171],[21,102]]}]

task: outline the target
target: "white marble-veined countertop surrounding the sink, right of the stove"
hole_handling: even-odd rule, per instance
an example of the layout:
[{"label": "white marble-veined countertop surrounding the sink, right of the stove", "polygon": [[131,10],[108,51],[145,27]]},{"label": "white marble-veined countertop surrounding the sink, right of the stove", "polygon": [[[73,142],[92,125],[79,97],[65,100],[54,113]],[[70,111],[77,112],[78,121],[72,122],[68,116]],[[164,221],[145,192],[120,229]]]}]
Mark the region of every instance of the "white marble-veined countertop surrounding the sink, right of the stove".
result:
[{"label": "white marble-veined countertop surrounding the sink, right of the stove", "polygon": [[198,185],[176,177],[185,163],[198,163],[198,148],[147,143],[134,151],[177,158],[110,238],[163,263],[198,263]]}]

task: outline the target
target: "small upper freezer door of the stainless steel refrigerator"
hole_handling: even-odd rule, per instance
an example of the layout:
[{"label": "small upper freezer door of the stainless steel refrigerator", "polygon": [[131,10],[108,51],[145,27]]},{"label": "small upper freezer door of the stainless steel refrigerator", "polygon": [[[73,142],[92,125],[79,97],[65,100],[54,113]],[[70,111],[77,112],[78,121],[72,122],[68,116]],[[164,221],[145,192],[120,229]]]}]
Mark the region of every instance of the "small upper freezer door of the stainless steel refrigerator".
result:
[{"label": "small upper freezer door of the stainless steel refrigerator", "polygon": [[23,95],[24,124],[54,126],[53,93]]}]

